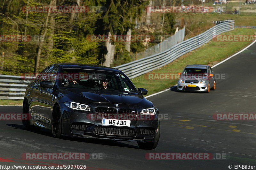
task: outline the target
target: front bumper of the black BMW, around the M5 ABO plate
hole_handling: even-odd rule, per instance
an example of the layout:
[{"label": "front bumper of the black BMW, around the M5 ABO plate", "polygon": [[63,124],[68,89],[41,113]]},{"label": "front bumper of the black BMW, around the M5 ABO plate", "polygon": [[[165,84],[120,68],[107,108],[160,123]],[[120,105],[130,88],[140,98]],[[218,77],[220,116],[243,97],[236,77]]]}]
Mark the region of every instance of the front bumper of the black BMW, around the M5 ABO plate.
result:
[{"label": "front bumper of the black BMW, around the M5 ABO plate", "polygon": [[[124,108],[121,106],[120,108]],[[126,106],[127,107],[127,106]],[[92,111],[95,110],[92,107]],[[140,112],[140,109],[137,108]],[[62,134],[65,136],[110,139],[119,141],[145,141],[156,142],[159,130],[159,118],[156,115],[140,117],[139,113],[130,120],[130,127],[102,125],[102,118],[96,113],[73,110],[68,107],[61,107],[62,113]],[[96,117],[94,116],[96,115]]]}]

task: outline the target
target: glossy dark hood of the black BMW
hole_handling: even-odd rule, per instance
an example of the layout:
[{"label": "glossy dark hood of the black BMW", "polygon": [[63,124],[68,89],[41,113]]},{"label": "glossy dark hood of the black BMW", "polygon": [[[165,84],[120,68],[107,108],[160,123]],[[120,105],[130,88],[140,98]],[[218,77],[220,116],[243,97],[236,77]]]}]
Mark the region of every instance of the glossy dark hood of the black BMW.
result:
[{"label": "glossy dark hood of the black BMW", "polygon": [[131,92],[119,92],[101,89],[65,89],[61,93],[69,99],[79,103],[119,103],[140,107],[153,107],[151,101],[143,95]]}]

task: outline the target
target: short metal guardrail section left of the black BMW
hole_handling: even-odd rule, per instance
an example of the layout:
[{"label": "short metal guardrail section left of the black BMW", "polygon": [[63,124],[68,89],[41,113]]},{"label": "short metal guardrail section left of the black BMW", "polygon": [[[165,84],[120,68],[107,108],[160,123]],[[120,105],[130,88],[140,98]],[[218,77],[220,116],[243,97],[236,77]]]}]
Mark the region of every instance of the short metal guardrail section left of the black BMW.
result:
[{"label": "short metal guardrail section left of the black BMW", "polygon": [[30,83],[21,76],[0,75],[0,100],[24,98],[24,92]]}]

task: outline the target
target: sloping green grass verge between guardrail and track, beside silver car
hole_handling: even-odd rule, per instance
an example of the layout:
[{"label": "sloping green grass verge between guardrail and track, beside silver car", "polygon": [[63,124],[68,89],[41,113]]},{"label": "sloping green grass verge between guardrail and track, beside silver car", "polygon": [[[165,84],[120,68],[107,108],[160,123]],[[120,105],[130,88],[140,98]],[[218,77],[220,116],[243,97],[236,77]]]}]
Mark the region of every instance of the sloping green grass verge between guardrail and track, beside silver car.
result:
[{"label": "sloping green grass verge between guardrail and track, beside silver car", "polygon": [[[233,31],[222,33],[224,35],[253,35],[255,29],[237,28]],[[210,41],[200,48],[193,50],[172,63],[149,73],[178,73],[182,72],[188,64],[208,64],[210,66],[222,61],[228,56],[243,49],[251,42],[219,42]],[[147,74],[132,79],[133,84],[138,88],[148,90],[148,95],[170,88],[177,84],[177,80],[149,80]]]}]

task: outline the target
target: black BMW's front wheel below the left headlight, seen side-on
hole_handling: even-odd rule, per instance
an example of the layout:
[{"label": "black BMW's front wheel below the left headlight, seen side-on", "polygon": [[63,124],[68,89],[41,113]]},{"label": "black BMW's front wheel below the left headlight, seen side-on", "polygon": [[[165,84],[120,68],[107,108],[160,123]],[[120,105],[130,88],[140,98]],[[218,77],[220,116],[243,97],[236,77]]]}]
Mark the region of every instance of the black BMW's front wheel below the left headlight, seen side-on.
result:
[{"label": "black BMW's front wheel below the left headlight, seen side-on", "polygon": [[60,138],[62,134],[62,120],[59,107],[54,107],[52,111],[52,136]]}]

